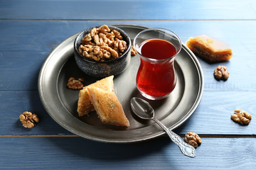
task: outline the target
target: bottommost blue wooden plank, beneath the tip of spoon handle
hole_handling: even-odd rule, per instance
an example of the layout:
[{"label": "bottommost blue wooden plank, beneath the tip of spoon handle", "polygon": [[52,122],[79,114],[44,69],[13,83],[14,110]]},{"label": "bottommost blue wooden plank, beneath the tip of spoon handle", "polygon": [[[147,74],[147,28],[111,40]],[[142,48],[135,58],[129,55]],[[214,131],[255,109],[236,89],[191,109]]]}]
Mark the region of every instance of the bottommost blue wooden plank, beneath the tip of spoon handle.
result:
[{"label": "bottommost blue wooden plank, beneath the tip of spoon handle", "polygon": [[[80,137],[1,137],[1,169],[255,169],[256,138],[202,138],[196,158],[167,137],[132,145]],[[15,152],[14,152],[15,151]]]}]

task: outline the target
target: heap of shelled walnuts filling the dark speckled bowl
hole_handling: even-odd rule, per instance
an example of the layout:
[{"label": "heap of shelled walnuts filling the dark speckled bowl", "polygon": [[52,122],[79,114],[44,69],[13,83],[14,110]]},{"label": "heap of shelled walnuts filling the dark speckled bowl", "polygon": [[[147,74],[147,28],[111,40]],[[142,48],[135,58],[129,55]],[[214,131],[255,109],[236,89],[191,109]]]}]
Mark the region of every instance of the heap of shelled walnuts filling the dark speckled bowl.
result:
[{"label": "heap of shelled walnuts filling the dark speckled bowl", "polygon": [[116,59],[127,50],[127,42],[117,30],[110,30],[106,25],[92,28],[82,39],[78,52],[83,57],[95,61]]}]

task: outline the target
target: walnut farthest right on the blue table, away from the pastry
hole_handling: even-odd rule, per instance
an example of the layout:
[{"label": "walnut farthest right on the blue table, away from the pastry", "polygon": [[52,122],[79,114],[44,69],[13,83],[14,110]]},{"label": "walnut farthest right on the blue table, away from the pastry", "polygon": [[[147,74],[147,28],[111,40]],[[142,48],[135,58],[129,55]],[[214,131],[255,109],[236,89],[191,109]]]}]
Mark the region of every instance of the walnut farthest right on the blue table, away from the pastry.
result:
[{"label": "walnut farthest right on the blue table, away from the pastry", "polygon": [[250,120],[252,120],[252,115],[245,111],[235,110],[235,113],[231,115],[231,119],[240,123],[241,125],[248,125]]}]

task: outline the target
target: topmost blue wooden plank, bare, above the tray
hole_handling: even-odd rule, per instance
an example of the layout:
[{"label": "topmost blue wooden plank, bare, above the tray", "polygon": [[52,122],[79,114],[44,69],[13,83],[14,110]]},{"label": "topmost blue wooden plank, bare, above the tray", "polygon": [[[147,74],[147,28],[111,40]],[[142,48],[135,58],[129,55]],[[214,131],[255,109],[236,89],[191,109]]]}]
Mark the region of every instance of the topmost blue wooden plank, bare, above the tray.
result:
[{"label": "topmost blue wooden plank, bare, above the tray", "polygon": [[[255,19],[255,1],[0,1],[1,19],[225,20]],[[18,10],[17,10],[18,9]]]}]

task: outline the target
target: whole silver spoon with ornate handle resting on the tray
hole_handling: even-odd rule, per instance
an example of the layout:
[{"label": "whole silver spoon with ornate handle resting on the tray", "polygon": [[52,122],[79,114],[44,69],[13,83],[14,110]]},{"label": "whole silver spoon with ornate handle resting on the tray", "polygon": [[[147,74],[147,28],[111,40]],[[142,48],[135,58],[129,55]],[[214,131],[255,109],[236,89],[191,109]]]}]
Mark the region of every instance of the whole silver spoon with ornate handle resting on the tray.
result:
[{"label": "whole silver spoon with ornate handle resting on the tray", "polygon": [[169,135],[171,140],[176,145],[178,145],[183,154],[185,154],[188,157],[196,157],[196,149],[194,147],[188,145],[186,142],[182,140],[180,136],[169,130],[169,128],[167,128],[163,123],[154,118],[154,109],[147,101],[144,101],[142,98],[134,97],[131,99],[131,107],[132,111],[134,111],[134,113],[139,118],[146,120],[154,120],[157,124],[159,124],[161,128],[163,128],[166,131],[167,135]]}]

